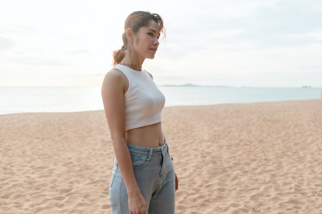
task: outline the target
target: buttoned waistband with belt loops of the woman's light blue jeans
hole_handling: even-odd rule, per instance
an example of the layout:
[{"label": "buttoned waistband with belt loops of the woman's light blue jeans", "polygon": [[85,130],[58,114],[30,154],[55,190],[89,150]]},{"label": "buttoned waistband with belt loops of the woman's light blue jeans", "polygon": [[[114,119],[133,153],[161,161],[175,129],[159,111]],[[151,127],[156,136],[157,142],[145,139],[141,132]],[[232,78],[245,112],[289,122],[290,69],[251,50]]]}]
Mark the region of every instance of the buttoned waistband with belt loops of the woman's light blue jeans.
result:
[{"label": "buttoned waistband with belt loops of the woman's light blue jeans", "polygon": [[129,151],[131,154],[139,154],[144,156],[159,156],[162,155],[163,152],[168,151],[168,144],[167,141],[165,141],[165,144],[163,146],[157,147],[157,148],[149,148],[144,146],[136,146],[132,144],[127,144]]}]

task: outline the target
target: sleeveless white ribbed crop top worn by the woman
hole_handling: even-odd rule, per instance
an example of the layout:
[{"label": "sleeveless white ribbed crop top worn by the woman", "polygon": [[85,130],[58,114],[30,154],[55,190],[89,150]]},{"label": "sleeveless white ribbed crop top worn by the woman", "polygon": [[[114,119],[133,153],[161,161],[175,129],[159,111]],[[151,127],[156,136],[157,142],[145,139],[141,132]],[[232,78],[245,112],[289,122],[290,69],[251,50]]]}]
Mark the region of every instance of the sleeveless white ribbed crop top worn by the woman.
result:
[{"label": "sleeveless white ribbed crop top worn by the woman", "polygon": [[129,81],[129,88],[124,94],[126,130],[161,122],[165,96],[149,73],[144,69],[136,71],[119,64],[114,68],[119,69]]}]

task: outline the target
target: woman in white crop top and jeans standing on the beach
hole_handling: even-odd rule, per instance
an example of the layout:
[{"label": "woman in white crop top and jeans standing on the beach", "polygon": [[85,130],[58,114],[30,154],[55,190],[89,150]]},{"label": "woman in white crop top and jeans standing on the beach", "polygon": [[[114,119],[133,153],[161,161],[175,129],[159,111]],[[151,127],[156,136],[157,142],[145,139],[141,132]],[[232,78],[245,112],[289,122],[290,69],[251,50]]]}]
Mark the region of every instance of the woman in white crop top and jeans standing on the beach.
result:
[{"label": "woman in white crop top and jeans standing on the beach", "polygon": [[174,214],[178,180],[161,126],[165,104],[152,75],[142,68],[154,59],[163,19],[145,11],[125,21],[123,46],[113,52],[102,99],[115,152],[110,183],[113,214]]}]

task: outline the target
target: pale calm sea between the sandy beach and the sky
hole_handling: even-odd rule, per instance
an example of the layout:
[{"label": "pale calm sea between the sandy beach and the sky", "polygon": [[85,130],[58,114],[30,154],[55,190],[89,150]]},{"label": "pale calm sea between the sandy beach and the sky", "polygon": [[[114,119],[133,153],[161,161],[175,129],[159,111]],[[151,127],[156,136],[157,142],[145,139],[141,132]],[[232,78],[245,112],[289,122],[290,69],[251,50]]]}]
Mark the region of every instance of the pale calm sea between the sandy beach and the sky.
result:
[{"label": "pale calm sea between the sandy beach and the sky", "polygon": [[[165,106],[321,99],[322,88],[159,86]],[[100,87],[0,87],[0,114],[102,110]]]}]

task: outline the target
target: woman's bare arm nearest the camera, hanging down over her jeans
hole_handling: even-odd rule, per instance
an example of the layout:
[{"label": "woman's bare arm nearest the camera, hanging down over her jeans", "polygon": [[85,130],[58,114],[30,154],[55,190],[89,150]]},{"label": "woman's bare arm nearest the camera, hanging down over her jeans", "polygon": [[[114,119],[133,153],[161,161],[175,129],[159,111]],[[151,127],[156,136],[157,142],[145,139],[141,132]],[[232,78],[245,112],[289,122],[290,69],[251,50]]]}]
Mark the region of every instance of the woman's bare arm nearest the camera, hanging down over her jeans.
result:
[{"label": "woman's bare arm nearest the camera, hanging down over her jeans", "polygon": [[125,140],[124,93],[127,88],[126,77],[117,69],[112,69],[105,75],[101,93],[115,157],[129,196],[130,213],[145,214],[147,204],[136,183],[130,152]]}]

